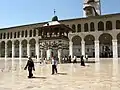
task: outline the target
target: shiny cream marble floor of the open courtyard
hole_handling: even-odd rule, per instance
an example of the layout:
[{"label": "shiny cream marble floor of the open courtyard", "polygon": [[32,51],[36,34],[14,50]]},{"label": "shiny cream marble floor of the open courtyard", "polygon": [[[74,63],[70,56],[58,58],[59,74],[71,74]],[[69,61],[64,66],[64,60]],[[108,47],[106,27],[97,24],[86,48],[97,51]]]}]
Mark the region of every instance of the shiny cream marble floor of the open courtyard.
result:
[{"label": "shiny cream marble floor of the open courtyard", "polygon": [[0,90],[120,90],[120,60],[59,64],[51,75],[50,64],[35,63],[34,78],[23,70],[26,61],[0,60]]}]

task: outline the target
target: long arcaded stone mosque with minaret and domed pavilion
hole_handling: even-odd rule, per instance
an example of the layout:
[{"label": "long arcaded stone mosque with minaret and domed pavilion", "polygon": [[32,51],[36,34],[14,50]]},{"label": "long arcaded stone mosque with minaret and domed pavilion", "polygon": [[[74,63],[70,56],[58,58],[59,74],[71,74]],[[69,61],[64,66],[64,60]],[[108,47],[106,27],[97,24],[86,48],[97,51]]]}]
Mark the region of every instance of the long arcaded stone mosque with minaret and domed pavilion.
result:
[{"label": "long arcaded stone mosque with minaret and domed pavilion", "polygon": [[84,0],[84,17],[0,29],[0,58],[120,57],[120,13],[101,15],[100,0]]}]

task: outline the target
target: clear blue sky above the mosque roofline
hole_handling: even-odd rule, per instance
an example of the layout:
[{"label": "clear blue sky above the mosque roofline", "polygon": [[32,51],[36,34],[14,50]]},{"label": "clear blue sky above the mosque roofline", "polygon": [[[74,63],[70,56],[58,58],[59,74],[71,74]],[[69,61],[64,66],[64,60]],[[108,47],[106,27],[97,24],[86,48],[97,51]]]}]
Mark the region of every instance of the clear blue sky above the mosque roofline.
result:
[{"label": "clear blue sky above the mosque roofline", "polygon": [[[101,0],[102,14],[119,13],[120,0]],[[1,0],[0,28],[83,16],[83,0]]]}]

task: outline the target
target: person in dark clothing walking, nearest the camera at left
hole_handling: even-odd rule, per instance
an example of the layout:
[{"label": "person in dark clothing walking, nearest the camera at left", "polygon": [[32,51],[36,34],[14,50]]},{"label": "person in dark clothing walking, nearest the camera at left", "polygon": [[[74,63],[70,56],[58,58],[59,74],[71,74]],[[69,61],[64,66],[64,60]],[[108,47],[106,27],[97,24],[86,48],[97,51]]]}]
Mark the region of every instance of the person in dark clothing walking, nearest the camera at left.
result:
[{"label": "person in dark clothing walking, nearest the camera at left", "polygon": [[27,64],[26,64],[24,70],[26,70],[27,68],[28,68],[28,72],[29,72],[28,78],[32,78],[32,76],[33,76],[32,70],[35,71],[35,67],[34,67],[34,62],[31,57],[28,57],[28,61],[27,61]]}]

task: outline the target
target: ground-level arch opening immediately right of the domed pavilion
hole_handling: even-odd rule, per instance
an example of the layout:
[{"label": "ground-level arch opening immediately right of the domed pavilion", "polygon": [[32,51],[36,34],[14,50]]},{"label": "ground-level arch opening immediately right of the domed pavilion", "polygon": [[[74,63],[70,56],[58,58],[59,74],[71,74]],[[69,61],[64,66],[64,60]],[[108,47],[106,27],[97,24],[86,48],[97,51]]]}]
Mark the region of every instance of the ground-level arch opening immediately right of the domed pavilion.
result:
[{"label": "ground-level arch opening immediately right of the domed pavilion", "polygon": [[72,38],[73,42],[73,56],[77,56],[80,58],[81,56],[81,37],[80,36],[74,36]]}]

